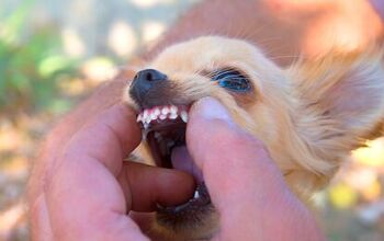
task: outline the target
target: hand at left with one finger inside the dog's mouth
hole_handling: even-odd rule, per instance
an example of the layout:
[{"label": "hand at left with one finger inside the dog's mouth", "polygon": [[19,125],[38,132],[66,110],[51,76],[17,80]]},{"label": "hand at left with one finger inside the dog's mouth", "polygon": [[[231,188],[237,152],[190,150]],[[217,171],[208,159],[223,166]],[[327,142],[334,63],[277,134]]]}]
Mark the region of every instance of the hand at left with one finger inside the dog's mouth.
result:
[{"label": "hand at left with one finger inside the dog's mouth", "polygon": [[32,202],[33,240],[147,240],[126,214],[192,195],[194,181],[187,173],[123,162],[140,141],[135,119],[131,110],[115,105],[49,161],[43,191]]}]

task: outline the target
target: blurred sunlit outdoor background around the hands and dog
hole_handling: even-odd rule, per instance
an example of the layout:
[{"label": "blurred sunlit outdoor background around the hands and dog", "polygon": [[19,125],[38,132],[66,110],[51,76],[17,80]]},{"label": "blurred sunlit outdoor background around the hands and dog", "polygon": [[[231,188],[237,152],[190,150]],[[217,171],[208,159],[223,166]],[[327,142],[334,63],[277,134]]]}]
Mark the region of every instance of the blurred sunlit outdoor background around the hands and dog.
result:
[{"label": "blurred sunlit outdoor background around the hands and dog", "polygon": [[[199,0],[0,0],[0,240],[27,240],[23,193],[44,134]],[[384,240],[384,138],[316,195],[329,240]]]}]

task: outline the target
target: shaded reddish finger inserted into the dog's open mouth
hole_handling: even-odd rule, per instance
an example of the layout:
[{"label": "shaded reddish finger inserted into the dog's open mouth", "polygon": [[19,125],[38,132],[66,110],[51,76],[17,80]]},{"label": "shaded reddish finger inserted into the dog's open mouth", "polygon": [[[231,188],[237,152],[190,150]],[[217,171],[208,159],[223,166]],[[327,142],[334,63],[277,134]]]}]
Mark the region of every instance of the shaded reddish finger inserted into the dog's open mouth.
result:
[{"label": "shaded reddish finger inserted into the dog's open mouth", "polygon": [[185,172],[135,162],[124,162],[118,180],[135,211],[154,211],[157,205],[185,203],[195,187],[193,176]]}]

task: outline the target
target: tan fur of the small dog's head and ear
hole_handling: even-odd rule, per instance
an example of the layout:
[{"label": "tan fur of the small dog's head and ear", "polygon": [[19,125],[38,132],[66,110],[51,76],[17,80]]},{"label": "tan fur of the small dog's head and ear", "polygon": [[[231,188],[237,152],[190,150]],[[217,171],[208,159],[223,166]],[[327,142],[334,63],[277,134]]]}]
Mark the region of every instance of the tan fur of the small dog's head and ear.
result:
[{"label": "tan fur of the small dog's head and ear", "polygon": [[[207,36],[167,48],[147,67],[169,77],[171,88],[161,94],[172,103],[203,96],[223,103],[238,125],[263,141],[292,191],[307,200],[384,119],[381,60],[377,49],[335,50],[282,69],[244,41]],[[249,93],[230,93],[204,74],[228,67],[249,77]],[[128,95],[125,101],[131,103]],[[204,237],[191,227],[179,239]]]}]

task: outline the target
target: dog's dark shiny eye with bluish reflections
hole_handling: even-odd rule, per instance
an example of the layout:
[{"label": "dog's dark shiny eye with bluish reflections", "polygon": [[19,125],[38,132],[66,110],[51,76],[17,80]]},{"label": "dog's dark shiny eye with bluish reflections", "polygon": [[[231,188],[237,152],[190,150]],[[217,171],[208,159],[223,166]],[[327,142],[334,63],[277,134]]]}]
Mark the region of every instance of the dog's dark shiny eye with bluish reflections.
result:
[{"label": "dog's dark shiny eye with bluish reflections", "polygon": [[212,80],[218,85],[236,92],[250,90],[250,82],[241,72],[234,69],[218,70],[212,74]]}]

